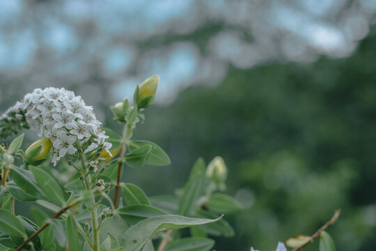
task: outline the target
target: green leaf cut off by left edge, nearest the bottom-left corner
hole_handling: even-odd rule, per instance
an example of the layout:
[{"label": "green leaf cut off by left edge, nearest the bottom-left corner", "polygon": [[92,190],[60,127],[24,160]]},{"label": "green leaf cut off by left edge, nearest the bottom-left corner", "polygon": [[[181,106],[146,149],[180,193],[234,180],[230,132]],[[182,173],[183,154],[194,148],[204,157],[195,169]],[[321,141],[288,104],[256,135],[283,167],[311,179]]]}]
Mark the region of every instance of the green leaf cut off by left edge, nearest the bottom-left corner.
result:
[{"label": "green leaf cut off by left edge, nearest the bottom-left corner", "polygon": [[21,222],[13,213],[4,209],[0,209],[0,232],[8,234],[16,244],[22,243],[24,238],[27,238]]}]

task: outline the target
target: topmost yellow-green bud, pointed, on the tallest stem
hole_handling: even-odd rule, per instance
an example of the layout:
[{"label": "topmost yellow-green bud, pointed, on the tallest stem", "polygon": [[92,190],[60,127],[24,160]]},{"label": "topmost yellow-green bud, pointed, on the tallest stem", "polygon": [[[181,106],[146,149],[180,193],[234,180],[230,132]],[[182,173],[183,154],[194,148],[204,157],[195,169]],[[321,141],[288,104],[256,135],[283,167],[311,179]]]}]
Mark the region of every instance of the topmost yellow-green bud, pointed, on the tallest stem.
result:
[{"label": "topmost yellow-green bud, pointed, on the tallest stem", "polygon": [[158,82],[159,76],[154,75],[140,84],[139,98],[137,99],[137,106],[139,108],[146,108],[152,104],[152,101],[155,99],[155,93],[157,92]]}]

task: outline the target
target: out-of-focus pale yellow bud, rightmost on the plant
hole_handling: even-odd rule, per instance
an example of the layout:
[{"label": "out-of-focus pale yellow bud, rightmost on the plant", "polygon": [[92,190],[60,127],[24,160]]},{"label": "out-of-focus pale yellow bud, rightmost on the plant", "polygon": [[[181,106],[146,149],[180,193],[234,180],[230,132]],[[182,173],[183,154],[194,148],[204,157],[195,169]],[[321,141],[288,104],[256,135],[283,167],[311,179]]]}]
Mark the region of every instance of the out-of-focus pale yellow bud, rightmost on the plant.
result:
[{"label": "out-of-focus pale yellow bud, rightmost on the plant", "polygon": [[219,190],[226,190],[227,167],[224,159],[215,157],[207,166],[206,176],[216,183]]}]

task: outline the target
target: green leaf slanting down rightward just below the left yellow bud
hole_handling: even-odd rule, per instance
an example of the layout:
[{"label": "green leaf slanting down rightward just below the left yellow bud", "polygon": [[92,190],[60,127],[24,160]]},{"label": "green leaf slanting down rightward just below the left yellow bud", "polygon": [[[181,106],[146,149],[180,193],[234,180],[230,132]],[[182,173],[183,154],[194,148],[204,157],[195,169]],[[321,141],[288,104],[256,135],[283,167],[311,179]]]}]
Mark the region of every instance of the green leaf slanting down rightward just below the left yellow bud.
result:
[{"label": "green leaf slanting down rightward just below the left yellow bud", "polygon": [[54,177],[38,167],[29,166],[29,168],[48,199],[58,206],[63,206],[65,204],[63,190],[61,190],[60,185],[58,185]]}]

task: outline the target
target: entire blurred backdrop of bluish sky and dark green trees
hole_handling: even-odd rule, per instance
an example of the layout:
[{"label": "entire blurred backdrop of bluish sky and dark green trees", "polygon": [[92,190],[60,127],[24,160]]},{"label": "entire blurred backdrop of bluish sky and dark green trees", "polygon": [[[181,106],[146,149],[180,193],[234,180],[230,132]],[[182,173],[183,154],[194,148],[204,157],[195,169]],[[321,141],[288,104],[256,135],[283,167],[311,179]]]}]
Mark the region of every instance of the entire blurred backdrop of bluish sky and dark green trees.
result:
[{"label": "entire blurred backdrop of bluish sky and dark green trees", "polygon": [[125,180],[172,194],[221,155],[244,211],[216,250],[275,249],[336,208],[338,250],[375,250],[375,14],[374,0],[0,1],[0,112],[65,87],[120,130],[109,105],[159,74],[134,139],[172,165]]}]

